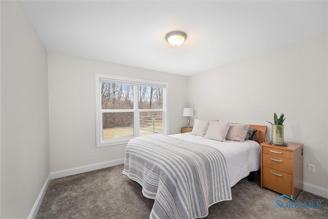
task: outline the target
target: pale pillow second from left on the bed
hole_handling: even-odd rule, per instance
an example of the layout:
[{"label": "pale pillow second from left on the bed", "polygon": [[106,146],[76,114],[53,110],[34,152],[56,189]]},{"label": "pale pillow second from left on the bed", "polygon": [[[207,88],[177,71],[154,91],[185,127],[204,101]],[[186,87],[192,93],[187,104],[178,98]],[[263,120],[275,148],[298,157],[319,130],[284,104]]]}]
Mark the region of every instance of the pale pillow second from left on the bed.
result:
[{"label": "pale pillow second from left on the bed", "polygon": [[220,142],[226,142],[226,135],[228,133],[231,122],[214,122],[211,121],[209,128],[204,135],[204,138],[213,139]]}]

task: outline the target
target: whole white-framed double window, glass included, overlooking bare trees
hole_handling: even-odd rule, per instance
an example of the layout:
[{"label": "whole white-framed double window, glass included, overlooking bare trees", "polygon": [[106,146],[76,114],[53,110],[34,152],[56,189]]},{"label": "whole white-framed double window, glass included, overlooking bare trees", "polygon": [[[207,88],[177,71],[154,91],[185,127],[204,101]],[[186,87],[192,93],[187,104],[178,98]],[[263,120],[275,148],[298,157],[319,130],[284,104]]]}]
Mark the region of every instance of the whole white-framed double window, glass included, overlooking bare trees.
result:
[{"label": "whole white-framed double window, glass included, overlooking bare trees", "polygon": [[167,133],[165,82],[96,74],[97,147]]}]

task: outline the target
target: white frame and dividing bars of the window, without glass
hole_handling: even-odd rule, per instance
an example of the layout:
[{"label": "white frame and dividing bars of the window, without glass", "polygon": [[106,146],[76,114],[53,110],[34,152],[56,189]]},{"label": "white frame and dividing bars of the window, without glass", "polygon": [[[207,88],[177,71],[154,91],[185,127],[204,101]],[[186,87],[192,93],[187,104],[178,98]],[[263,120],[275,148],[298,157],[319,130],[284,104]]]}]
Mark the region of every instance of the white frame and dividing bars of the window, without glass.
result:
[{"label": "white frame and dividing bars of the window, without glass", "polygon": [[[126,110],[104,110],[101,109],[101,86],[100,82],[109,83],[120,83],[120,84],[132,84],[132,85],[142,85],[142,86],[154,86],[163,88],[163,109],[138,109],[138,91],[137,86],[134,86],[134,109]],[[147,79],[122,77],[116,75],[108,74],[95,74],[95,89],[96,89],[96,147],[106,147],[112,145],[127,144],[131,138],[139,136],[139,114],[140,112],[163,112],[163,133],[166,135],[168,133],[168,103],[167,97],[169,93],[169,84],[167,82],[150,81]],[[132,137],[121,137],[113,138],[109,140],[103,140],[103,113],[104,112],[134,112],[134,136]]]}]

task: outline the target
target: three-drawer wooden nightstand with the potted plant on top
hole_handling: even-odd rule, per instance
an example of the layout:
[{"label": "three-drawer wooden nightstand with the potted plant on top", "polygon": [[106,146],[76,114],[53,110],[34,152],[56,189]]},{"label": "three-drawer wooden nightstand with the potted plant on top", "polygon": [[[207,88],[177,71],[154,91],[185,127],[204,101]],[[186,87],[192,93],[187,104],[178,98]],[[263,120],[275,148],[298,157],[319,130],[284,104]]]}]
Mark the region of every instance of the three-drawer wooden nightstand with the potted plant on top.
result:
[{"label": "three-drawer wooden nightstand with the potted plant on top", "polygon": [[303,144],[288,146],[261,143],[261,188],[296,198],[303,190]]}]

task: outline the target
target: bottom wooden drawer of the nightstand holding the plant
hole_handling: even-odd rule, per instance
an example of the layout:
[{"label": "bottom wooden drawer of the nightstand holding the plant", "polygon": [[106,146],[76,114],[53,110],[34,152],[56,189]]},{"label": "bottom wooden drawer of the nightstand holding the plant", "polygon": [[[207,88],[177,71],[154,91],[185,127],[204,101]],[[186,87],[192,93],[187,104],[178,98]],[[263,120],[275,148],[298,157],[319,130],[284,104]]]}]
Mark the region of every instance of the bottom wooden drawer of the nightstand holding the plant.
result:
[{"label": "bottom wooden drawer of the nightstand holding the plant", "polygon": [[292,174],[263,167],[263,186],[281,194],[291,196]]}]

